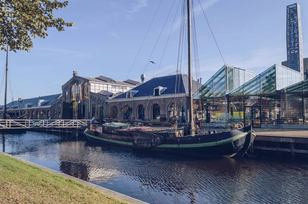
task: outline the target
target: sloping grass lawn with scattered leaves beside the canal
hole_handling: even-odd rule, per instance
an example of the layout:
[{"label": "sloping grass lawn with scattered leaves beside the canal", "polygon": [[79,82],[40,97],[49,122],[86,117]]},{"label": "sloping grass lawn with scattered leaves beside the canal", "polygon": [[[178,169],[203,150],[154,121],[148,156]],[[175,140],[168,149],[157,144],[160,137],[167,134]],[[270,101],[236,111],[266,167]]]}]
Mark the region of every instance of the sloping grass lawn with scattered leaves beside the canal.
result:
[{"label": "sloping grass lawn with scattered leaves beside the canal", "polygon": [[0,154],[0,203],[125,203]]}]

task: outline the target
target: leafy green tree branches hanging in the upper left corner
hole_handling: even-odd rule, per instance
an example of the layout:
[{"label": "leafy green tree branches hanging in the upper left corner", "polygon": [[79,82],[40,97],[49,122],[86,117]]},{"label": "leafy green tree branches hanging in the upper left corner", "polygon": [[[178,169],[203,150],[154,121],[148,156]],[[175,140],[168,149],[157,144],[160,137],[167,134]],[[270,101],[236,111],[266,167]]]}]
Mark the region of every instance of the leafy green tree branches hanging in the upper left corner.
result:
[{"label": "leafy green tree branches hanging in the upper left corner", "polygon": [[54,27],[64,31],[64,26],[71,27],[74,23],[66,23],[62,18],[55,18],[53,11],[66,7],[68,2],[56,0],[0,0],[0,47],[10,50],[30,51],[31,40],[36,36],[48,36],[47,28]]}]

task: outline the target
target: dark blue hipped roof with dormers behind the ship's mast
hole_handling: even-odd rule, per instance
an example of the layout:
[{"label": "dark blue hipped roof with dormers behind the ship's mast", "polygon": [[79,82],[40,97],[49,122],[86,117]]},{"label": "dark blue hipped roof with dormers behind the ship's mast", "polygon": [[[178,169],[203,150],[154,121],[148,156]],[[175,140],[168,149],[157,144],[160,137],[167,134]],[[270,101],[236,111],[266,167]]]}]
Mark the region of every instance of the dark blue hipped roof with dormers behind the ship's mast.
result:
[{"label": "dark blue hipped roof with dormers behind the ship's mast", "polygon": [[[202,85],[195,80],[192,80],[192,92],[195,93]],[[168,75],[152,78],[144,84],[139,85],[131,90],[138,91],[133,95],[136,97],[152,96],[154,89],[157,87],[166,87],[167,89],[161,95],[188,93],[188,76],[184,74]],[[177,90],[176,90],[177,87]],[[113,99],[126,98],[126,93],[116,96]]]}]

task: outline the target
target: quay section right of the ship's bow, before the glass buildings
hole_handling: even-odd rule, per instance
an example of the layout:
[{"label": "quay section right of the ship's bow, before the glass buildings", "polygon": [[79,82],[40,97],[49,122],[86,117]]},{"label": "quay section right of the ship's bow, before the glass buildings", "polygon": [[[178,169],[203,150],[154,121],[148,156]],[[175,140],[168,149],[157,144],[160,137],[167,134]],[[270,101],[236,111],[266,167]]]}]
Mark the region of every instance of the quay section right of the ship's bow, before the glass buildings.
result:
[{"label": "quay section right of the ship's bow, before the glass buildings", "polygon": [[308,156],[308,130],[254,128],[254,154]]}]

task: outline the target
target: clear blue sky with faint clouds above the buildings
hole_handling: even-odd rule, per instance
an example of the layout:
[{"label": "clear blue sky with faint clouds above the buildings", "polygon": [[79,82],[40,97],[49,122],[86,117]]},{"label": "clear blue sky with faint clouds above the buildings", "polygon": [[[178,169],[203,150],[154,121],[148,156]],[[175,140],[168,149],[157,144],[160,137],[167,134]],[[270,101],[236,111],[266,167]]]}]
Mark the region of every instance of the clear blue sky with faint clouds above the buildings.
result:
[{"label": "clear blue sky with faint clouds above the buildings", "polygon": [[[226,64],[255,71],[257,74],[286,59],[286,6],[290,0],[200,0],[216,36]],[[61,86],[73,71],[80,76],[108,76],[125,80],[159,0],[69,0],[67,8],[56,16],[75,22],[64,32],[49,29],[45,39],[33,39],[30,53],[9,53],[11,89],[14,99],[61,93]],[[148,64],[149,56],[163,28],[173,0],[163,0],[136,63],[128,78],[139,80],[146,67],[147,80],[157,75],[179,0],[171,10],[160,40]],[[197,0],[195,2],[200,74],[205,82],[223,66]],[[308,57],[308,1],[301,7],[303,53]],[[177,67],[180,12],[175,18],[158,76]],[[0,54],[5,69],[5,52]],[[196,76],[195,68],[194,76]],[[187,73],[186,69],[182,70]],[[0,74],[3,72],[0,71]],[[3,75],[1,75],[3,76]],[[3,77],[1,77],[3,78]],[[10,94],[8,101],[11,101]],[[4,100],[4,91],[0,94]],[[3,102],[0,102],[3,104]]]}]

